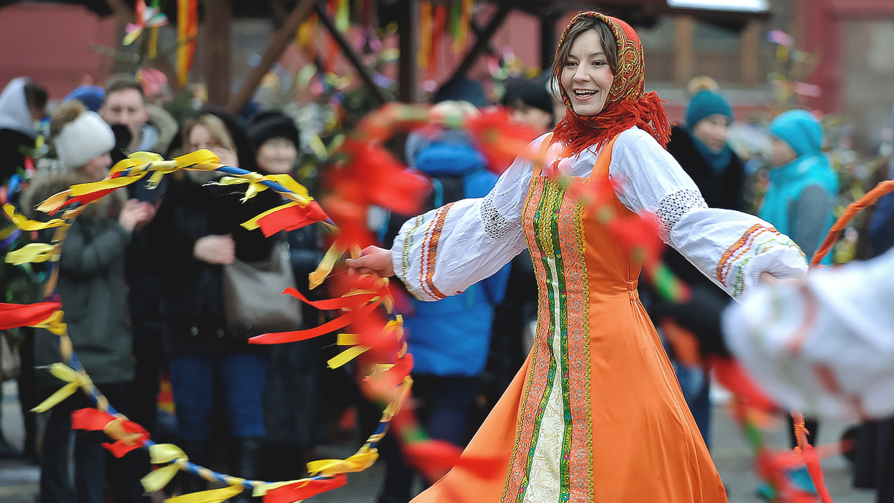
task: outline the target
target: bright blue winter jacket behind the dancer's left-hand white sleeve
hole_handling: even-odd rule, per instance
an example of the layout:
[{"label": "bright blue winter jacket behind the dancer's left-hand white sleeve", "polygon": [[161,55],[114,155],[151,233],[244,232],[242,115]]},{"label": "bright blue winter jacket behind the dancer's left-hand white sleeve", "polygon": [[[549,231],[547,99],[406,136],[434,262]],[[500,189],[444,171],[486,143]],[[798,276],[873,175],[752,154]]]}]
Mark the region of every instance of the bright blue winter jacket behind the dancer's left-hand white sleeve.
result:
[{"label": "bright blue winter jacket behind the dancer's left-hand white sleeve", "polygon": [[[408,141],[408,144],[415,144]],[[418,147],[418,145],[417,145]],[[429,175],[433,185],[430,208],[462,198],[481,198],[497,175],[485,169],[485,159],[468,139],[455,132],[428,137],[415,149],[411,164]],[[405,218],[392,217],[390,228]],[[391,241],[393,240],[392,236]],[[439,376],[477,376],[485,368],[493,328],[493,309],[502,302],[509,266],[457,295],[434,303],[413,301],[402,313],[409,332],[414,372]]]}]

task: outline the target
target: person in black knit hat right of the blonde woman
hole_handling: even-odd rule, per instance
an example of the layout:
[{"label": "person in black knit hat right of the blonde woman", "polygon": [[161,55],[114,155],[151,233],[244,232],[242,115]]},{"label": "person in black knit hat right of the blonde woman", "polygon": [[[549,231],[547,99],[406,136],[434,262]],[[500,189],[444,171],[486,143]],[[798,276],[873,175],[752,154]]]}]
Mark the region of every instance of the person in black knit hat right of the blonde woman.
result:
[{"label": "person in black knit hat right of the blonde woman", "polygon": [[[248,127],[257,152],[260,173],[292,175],[299,151],[299,132],[279,112],[262,112]],[[284,201],[283,201],[284,202]],[[323,243],[316,225],[289,231],[289,256],[299,291],[314,298],[308,275],[323,259]],[[302,304],[302,328],[316,327],[319,311]],[[321,439],[322,399],[319,385],[322,355],[320,341],[312,338],[270,348],[270,369],[264,389],[265,441],[263,473],[266,480],[299,478],[305,470],[303,454]],[[289,396],[288,400],[283,399]]]}]

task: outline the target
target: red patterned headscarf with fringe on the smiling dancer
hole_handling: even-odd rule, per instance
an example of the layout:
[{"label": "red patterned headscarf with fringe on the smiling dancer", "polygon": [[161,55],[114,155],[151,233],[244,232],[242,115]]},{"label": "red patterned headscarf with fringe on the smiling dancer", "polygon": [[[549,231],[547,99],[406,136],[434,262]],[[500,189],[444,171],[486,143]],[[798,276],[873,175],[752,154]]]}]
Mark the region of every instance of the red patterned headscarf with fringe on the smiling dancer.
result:
[{"label": "red patterned headscarf with fringe on the smiling dancer", "polygon": [[[561,82],[559,83],[566,113],[555,127],[553,141],[559,141],[568,149],[569,154],[577,155],[591,146],[602,148],[620,132],[639,126],[664,147],[671,138],[671,121],[664,112],[662,99],[654,92],[644,94],[643,46],[639,42],[637,32],[628,23],[603,13],[579,13],[562,33],[559,47],[565,42],[571,27],[586,18],[603,21],[611,28],[618,41],[618,70],[615,72],[609,96],[605,99],[605,106],[597,115],[576,114],[571,107],[568,94],[562,89]],[[556,55],[558,57],[558,48]]]}]

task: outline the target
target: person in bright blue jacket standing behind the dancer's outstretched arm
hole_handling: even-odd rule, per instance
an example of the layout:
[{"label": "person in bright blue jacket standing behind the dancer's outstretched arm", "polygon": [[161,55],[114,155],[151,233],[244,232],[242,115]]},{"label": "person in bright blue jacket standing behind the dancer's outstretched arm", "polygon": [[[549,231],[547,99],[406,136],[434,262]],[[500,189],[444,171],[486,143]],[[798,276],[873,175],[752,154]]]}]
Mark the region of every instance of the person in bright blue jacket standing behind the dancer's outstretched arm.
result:
[{"label": "person in bright blue jacket standing behind the dancer's outstretched arm", "polygon": [[[477,114],[468,102],[446,101],[433,112],[459,110]],[[426,128],[409,135],[406,155],[411,168],[427,175],[432,184],[428,208],[463,198],[484,197],[498,176],[486,169],[484,156],[465,132]],[[394,215],[384,244],[391,246],[406,217]],[[493,310],[502,302],[510,267],[470,286],[464,293],[435,303],[413,300],[402,311],[413,354],[413,400],[420,422],[433,439],[465,447],[468,410],[475,399],[478,378],[485,370],[493,328]],[[388,438],[386,438],[388,439]],[[395,445],[383,446],[387,460],[379,503],[407,503],[416,473]],[[426,481],[425,485],[434,482]]]}]

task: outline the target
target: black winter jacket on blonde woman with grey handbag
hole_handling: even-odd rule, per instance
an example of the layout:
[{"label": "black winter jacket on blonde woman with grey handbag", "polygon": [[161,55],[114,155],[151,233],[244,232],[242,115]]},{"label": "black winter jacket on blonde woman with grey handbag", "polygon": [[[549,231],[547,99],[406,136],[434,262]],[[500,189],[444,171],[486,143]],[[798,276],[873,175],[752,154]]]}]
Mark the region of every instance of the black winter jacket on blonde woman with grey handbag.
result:
[{"label": "black winter jacket on blonde woman with grey handbag", "polygon": [[244,351],[248,343],[229,333],[223,314],[223,266],[193,256],[199,238],[232,234],[236,258],[253,262],[270,257],[273,240],[242,223],[274,208],[279,196],[258,193],[240,202],[232,186],[199,185],[189,177],[171,180],[148,228],[148,256],[162,281],[165,349],[169,353]]}]

